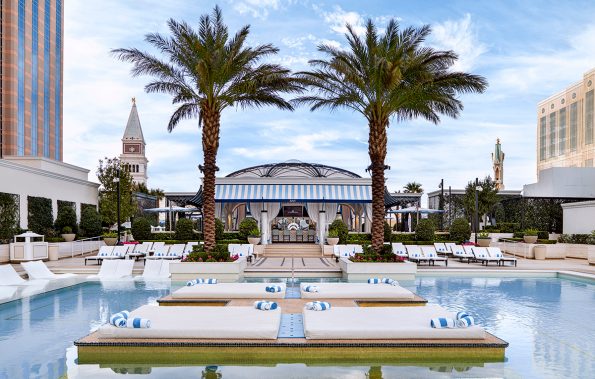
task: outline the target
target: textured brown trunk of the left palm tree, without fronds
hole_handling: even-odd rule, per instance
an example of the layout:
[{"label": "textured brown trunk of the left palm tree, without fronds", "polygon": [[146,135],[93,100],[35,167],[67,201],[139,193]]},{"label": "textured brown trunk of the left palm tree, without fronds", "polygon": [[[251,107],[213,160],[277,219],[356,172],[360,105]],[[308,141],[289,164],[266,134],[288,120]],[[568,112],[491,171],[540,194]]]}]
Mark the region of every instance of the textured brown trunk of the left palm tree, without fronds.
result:
[{"label": "textured brown trunk of the left palm tree, without fronds", "polygon": [[205,251],[215,248],[215,174],[217,172],[217,150],[219,149],[219,128],[221,115],[216,110],[203,109],[202,148],[203,168],[203,232]]}]

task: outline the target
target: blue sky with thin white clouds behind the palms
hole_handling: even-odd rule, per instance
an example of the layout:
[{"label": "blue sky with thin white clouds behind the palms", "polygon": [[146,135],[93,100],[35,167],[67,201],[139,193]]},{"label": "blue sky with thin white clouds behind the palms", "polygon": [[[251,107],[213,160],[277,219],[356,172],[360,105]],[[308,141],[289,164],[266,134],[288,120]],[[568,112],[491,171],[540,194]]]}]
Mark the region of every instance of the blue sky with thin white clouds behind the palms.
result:
[{"label": "blue sky with thin white clouds behind the palms", "polygon": [[[102,0],[69,1],[64,20],[64,160],[91,170],[121,153],[131,98],[141,120],[149,160],[149,188],[194,192],[200,185],[201,132],[197,120],[167,123],[171,97],[147,94],[149,77],[130,75],[131,65],[110,51],[152,51],[148,33],[169,35],[167,20],[198,19],[223,10],[230,32],[250,25],[248,44],[272,43],[272,58],[292,71],[323,58],[321,43],[346,47],[345,24],[361,32],[367,19],[380,28],[394,18],[401,27],[430,25],[428,46],[459,55],[453,69],[484,76],[483,94],[461,96],[457,119],[438,125],[423,119],[391,122],[386,164],[390,191],[411,181],[428,191],[441,179],[463,188],[492,175],[497,138],[506,154],[504,184],[520,190],[536,181],[537,103],[582,79],[595,67],[595,2],[564,1],[310,1],[310,0]],[[236,170],[297,159],[353,171],[363,177],[370,161],[366,120],[350,110],[300,107],[226,109],[217,157],[224,176]]]}]

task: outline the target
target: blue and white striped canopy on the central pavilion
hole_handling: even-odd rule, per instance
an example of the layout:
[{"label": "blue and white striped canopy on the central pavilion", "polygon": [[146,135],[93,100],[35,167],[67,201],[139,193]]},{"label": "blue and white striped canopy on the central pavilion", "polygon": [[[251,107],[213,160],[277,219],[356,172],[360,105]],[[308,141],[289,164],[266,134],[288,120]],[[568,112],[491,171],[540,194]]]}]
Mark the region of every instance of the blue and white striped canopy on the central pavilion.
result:
[{"label": "blue and white striped canopy on the central pavilion", "polygon": [[371,203],[372,187],[351,184],[217,184],[215,201]]}]

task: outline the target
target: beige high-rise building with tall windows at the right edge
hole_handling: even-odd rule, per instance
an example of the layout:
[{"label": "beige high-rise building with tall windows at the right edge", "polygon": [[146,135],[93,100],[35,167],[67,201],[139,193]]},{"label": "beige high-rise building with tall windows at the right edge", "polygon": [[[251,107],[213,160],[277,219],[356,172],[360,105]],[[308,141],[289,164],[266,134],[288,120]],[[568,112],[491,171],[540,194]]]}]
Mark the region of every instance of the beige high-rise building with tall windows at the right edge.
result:
[{"label": "beige high-rise building with tall windows at the right edge", "polygon": [[595,69],[537,105],[537,177],[551,167],[593,167]]}]

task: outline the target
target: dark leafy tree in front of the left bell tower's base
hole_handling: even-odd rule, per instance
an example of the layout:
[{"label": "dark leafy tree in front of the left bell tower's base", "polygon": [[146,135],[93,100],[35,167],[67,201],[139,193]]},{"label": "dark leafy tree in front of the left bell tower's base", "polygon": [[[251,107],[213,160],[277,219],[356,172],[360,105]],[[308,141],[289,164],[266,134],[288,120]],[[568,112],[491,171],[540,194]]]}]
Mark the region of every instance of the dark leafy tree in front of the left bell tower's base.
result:
[{"label": "dark leafy tree in front of the left bell tower's base", "polygon": [[101,221],[113,225],[118,220],[118,190],[114,179],[120,172],[120,220],[124,222],[134,215],[135,200],[132,197],[132,176],[120,169],[118,158],[99,160],[97,179],[99,179],[99,214]]}]

